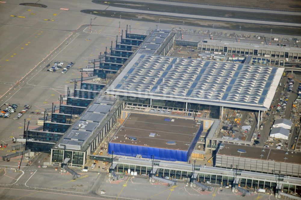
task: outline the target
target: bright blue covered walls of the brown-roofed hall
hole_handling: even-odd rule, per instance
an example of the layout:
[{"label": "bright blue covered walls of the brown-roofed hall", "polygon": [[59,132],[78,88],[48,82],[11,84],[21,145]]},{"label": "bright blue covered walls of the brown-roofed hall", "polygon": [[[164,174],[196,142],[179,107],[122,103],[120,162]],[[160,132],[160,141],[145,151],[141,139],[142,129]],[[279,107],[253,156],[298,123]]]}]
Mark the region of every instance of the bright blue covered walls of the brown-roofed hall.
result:
[{"label": "bright blue covered walls of the brown-roofed hall", "polygon": [[167,161],[182,161],[187,162],[191,152],[194,150],[194,147],[197,143],[197,140],[200,137],[200,134],[203,131],[203,123],[201,123],[200,128],[194,136],[194,139],[191,142],[191,146],[188,151],[176,150],[176,149],[162,149],[149,146],[137,146],[130,144],[120,144],[120,143],[109,143],[108,152],[114,151],[116,155],[124,155],[135,157],[137,154],[142,155],[142,158],[151,158],[152,155],[155,156],[155,159],[167,160]]}]

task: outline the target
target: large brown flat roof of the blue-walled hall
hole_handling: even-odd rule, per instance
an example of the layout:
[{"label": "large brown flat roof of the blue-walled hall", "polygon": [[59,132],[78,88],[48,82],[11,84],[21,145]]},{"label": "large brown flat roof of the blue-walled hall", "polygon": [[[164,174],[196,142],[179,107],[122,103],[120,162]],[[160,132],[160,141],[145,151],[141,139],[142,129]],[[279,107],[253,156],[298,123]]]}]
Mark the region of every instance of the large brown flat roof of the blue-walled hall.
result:
[{"label": "large brown flat roof of the blue-walled hall", "polygon": [[187,151],[199,128],[193,119],[130,113],[111,142]]}]

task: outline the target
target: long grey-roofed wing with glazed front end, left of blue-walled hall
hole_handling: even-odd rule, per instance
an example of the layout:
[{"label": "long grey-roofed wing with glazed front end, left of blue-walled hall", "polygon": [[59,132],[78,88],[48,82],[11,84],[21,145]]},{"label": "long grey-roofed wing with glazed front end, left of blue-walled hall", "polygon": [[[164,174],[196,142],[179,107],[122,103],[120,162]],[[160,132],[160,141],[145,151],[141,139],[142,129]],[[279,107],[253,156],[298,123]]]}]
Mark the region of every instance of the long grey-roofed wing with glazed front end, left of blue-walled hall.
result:
[{"label": "long grey-roofed wing with glazed front end, left of blue-walled hall", "polygon": [[51,148],[51,164],[61,164],[70,158],[69,165],[83,168],[91,154],[110,131],[123,109],[124,102],[113,97],[95,98],[85,112]]}]

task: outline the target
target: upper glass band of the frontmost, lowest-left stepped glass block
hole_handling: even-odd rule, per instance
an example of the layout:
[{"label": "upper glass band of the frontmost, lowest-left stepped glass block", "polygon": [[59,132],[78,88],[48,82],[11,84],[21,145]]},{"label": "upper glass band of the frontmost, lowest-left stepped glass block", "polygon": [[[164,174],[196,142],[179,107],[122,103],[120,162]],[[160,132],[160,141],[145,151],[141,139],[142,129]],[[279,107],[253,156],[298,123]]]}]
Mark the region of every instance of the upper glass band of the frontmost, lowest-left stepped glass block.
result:
[{"label": "upper glass band of the frontmost, lowest-left stepped glass block", "polygon": [[[35,131],[35,130],[28,130],[25,131],[23,138],[32,139],[35,141],[41,142],[57,142],[63,134],[60,133],[51,133],[51,132],[44,132],[44,131]],[[52,146],[51,146],[52,147]]]}]

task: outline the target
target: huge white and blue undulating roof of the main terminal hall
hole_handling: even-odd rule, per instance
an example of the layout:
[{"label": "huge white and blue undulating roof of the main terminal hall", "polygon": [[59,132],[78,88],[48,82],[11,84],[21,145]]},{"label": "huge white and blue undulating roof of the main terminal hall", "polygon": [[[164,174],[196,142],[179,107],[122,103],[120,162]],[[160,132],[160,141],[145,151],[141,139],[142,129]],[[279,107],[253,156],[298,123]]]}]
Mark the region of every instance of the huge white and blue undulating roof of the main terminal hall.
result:
[{"label": "huge white and blue undulating roof of the main terminal hall", "polygon": [[108,94],[267,110],[284,68],[136,54]]}]

